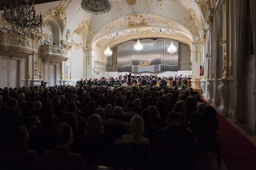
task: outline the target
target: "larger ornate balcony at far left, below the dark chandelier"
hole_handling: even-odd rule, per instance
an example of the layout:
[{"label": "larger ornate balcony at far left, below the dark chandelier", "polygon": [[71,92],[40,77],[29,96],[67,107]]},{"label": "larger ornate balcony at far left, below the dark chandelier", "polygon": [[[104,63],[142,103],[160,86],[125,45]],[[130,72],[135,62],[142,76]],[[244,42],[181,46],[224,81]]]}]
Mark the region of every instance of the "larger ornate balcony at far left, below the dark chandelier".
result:
[{"label": "larger ornate balcony at far left, below the dark chandelier", "polygon": [[37,41],[33,39],[0,29],[0,55],[24,58],[38,53],[36,46]]}]

